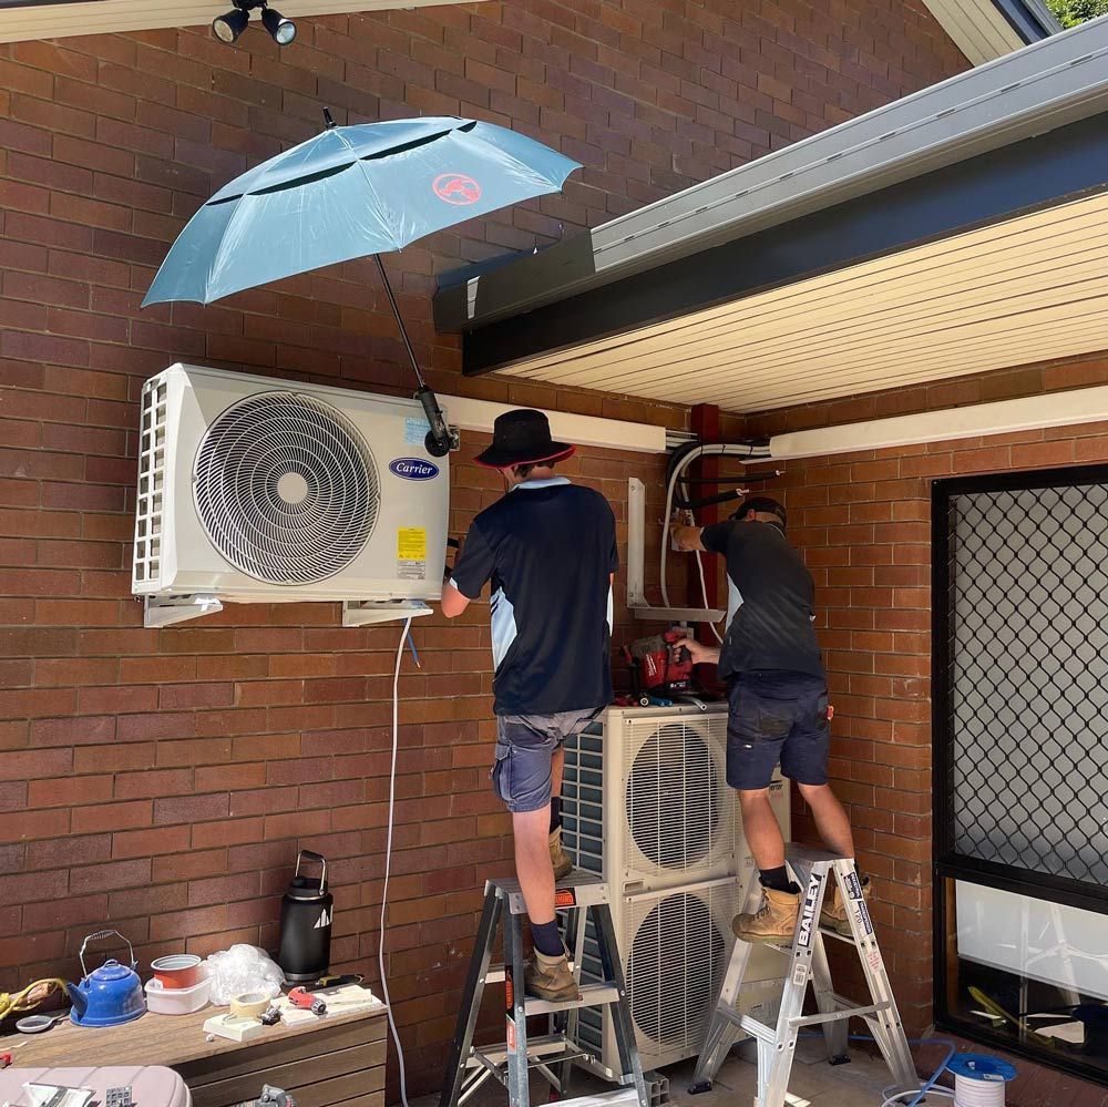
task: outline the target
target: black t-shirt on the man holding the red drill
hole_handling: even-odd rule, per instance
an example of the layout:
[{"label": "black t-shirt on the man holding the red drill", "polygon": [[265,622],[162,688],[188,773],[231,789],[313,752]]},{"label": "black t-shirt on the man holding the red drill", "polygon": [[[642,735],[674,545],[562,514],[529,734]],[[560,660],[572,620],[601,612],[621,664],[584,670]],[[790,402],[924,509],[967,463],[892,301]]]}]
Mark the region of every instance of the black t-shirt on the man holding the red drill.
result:
[{"label": "black t-shirt on the man holding the red drill", "polygon": [[701,532],[706,550],[727,557],[741,604],[724,637],[720,679],[742,673],[807,673],[827,679],[815,640],[815,585],[800,554],[772,523],[728,520]]}]

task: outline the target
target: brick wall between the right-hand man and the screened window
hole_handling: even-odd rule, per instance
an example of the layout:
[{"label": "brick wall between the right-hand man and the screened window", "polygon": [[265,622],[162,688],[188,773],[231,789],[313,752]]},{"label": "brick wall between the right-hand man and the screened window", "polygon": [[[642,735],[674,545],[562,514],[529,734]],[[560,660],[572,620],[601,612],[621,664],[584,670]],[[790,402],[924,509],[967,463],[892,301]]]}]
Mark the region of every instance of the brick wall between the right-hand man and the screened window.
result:
[{"label": "brick wall between the right-hand man and the screened window", "polygon": [[[1095,356],[752,416],[733,430],[771,434],[1106,382],[1108,360]],[[873,875],[882,953],[913,1033],[930,1024],[933,994],[932,481],[1106,460],[1108,424],[1090,423],[790,461],[767,485],[783,493],[790,537],[815,578],[835,706],[832,783]],[[797,833],[818,841],[793,800]]]}]

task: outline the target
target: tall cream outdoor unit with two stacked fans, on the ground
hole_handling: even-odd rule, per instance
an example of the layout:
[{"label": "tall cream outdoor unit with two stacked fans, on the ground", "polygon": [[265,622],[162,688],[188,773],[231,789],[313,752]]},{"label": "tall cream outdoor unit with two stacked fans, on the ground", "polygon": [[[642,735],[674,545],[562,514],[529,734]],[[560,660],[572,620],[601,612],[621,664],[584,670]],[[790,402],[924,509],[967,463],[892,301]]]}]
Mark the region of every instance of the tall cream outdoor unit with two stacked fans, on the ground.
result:
[{"label": "tall cream outdoor unit with two stacked fans, on the ground", "polygon": [[[613,925],[644,1068],[700,1052],[735,939],[731,918],[756,879],[738,797],[726,778],[727,705],[609,708],[566,744],[562,814],[578,868],[608,884]],[[770,799],[789,837],[789,783]],[[777,980],[787,959],[753,951],[746,978]],[[582,980],[601,980],[591,926]],[[577,1042],[620,1074],[608,1008],[583,1008]]]}]

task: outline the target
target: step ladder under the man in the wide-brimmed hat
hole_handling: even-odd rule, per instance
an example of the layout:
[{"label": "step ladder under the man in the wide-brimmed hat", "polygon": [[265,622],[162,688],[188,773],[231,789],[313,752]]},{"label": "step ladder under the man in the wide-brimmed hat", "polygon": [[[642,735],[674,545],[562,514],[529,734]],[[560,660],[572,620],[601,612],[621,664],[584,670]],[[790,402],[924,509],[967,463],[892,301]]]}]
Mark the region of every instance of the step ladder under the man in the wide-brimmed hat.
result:
[{"label": "step ladder under the man in the wide-brimmed hat", "polygon": [[[526,904],[515,880],[490,880],[485,883],[484,910],[478,940],[473,949],[462,1005],[458,1012],[458,1028],[447,1063],[447,1074],[439,1107],[461,1107],[489,1077],[495,1077],[507,1088],[511,1107],[530,1107],[531,1070],[537,1069],[555,1093],[566,1096],[574,1062],[587,1054],[573,1041],[576,1012],[582,1007],[603,1004],[612,1006],[612,1024],[623,1069],[624,1086],[615,1091],[568,1100],[577,1107],[650,1107],[650,1095],[643,1078],[638,1046],[630,1017],[630,1001],[624,980],[623,963],[616,946],[608,908],[608,891],[598,877],[572,872],[560,880],[554,892],[555,909],[568,911],[566,939],[574,956],[574,976],[581,987],[581,998],[567,1003],[529,998],[523,992],[523,922]],[[506,912],[505,912],[506,908]],[[585,940],[585,923],[592,913],[604,980],[581,986],[581,950]],[[504,922],[504,964],[491,964],[496,929]],[[476,1028],[481,997],[486,984],[504,984],[506,1041],[494,1046],[476,1047]],[[552,1033],[529,1037],[527,1016],[551,1016]]]}]

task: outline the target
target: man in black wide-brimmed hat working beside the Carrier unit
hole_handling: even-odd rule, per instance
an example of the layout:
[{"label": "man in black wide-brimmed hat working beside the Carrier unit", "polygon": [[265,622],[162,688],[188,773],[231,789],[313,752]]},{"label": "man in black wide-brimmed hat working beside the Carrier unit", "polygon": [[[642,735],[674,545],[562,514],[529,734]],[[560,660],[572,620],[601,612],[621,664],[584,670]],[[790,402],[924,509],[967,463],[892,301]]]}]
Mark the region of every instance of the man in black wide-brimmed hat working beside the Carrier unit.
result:
[{"label": "man in black wide-brimmed hat working beside the Carrier unit", "polygon": [[619,564],[607,501],[554,472],[573,450],[552,441],[541,411],[496,419],[492,445],[476,460],[500,471],[507,494],[473,520],[442,587],[442,613],[453,618],[492,582],[493,787],[512,812],[534,937],[526,988],[554,1001],[579,994],[554,912],[555,880],[572,868],[562,849],[562,744],[612,700],[612,580]]}]

